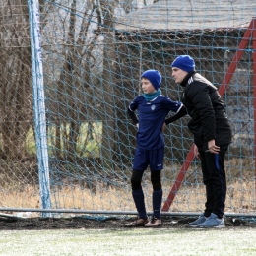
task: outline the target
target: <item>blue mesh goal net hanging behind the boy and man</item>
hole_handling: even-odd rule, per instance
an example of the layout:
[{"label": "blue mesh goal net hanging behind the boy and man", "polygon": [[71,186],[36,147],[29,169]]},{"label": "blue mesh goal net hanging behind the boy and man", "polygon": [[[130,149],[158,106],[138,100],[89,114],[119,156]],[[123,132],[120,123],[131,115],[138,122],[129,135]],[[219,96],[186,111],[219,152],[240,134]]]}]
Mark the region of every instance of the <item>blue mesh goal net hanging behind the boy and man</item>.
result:
[{"label": "blue mesh goal net hanging behind the boy and man", "polygon": [[[195,59],[197,71],[219,88],[256,15],[256,3],[247,0],[39,3],[52,207],[135,210],[130,176],[136,127],[127,116],[127,106],[141,93],[140,75],[146,69],[159,70],[162,94],[180,100],[182,89],[171,78],[170,63],[180,54],[189,54]],[[28,10],[21,6],[16,6],[17,14],[23,18],[19,24],[28,28]],[[1,10],[2,17],[4,11],[12,10],[12,14],[8,13],[10,38],[13,33],[23,40],[28,38],[28,30],[21,30],[23,35],[13,32],[16,9],[5,4]],[[4,27],[1,28],[3,36]],[[13,44],[5,44],[0,48],[1,54],[7,56],[10,51],[16,57],[25,54],[29,39],[25,45],[27,48],[19,48],[16,53],[11,48]],[[233,131],[233,143],[226,156],[226,211],[250,213],[256,204],[252,38],[242,50],[242,58],[223,96]],[[7,63],[11,64],[10,60],[9,57]],[[19,61],[28,69],[24,74],[30,79],[30,61],[27,63],[24,57]],[[13,71],[8,72],[10,75]],[[1,84],[3,88],[7,77]],[[23,96],[31,96],[30,91]],[[24,105],[22,109],[26,113],[23,116],[28,115],[26,120],[32,120],[32,105]],[[184,117],[164,130],[163,201],[193,142],[188,120]],[[33,134],[32,123],[27,124],[24,133],[27,138]],[[36,154],[33,139],[29,146],[25,151],[32,158]],[[25,176],[25,168],[20,171]],[[34,174],[30,182],[21,180],[24,184],[36,184],[38,177]],[[143,189],[147,209],[151,210],[149,170],[143,178]],[[204,203],[200,163],[194,159],[171,211],[202,211]]]}]

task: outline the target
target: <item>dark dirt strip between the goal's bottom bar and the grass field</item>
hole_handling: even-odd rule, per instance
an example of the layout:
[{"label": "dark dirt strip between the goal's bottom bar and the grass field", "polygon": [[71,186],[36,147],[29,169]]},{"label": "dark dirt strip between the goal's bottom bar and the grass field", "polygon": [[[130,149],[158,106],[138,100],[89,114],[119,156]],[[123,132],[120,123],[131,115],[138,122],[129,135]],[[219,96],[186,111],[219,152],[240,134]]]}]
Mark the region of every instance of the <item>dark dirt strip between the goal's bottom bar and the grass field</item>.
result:
[{"label": "dark dirt strip between the goal's bottom bar and the grass field", "polygon": [[[16,218],[0,217],[0,230],[40,230],[40,229],[120,229],[127,228],[125,224],[134,220],[134,217],[96,217],[76,216],[69,218]],[[188,223],[196,217],[162,217],[162,224],[158,228],[189,228]],[[225,217],[226,228],[256,228],[253,219]],[[139,227],[147,228],[147,227]]]}]

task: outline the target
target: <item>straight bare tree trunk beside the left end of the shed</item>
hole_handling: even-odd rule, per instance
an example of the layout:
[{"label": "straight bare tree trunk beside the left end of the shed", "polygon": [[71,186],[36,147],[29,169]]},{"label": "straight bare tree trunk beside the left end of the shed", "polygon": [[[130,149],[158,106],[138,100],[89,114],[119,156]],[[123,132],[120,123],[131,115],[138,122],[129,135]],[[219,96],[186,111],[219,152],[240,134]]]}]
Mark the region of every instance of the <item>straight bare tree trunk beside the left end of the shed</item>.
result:
[{"label": "straight bare tree trunk beside the left end of the shed", "polygon": [[[117,4],[114,0],[98,1],[101,7],[103,17],[103,26],[101,32],[104,36],[103,53],[103,73],[101,88],[103,90],[103,111],[102,111],[102,145],[101,158],[105,169],[112,169],[114,162],[115,146],[115,116],[114,116],[114,96],[115,96],[115,44],[114,44],[114,8]],[[99,18],[98,18],[99,20]]]}]

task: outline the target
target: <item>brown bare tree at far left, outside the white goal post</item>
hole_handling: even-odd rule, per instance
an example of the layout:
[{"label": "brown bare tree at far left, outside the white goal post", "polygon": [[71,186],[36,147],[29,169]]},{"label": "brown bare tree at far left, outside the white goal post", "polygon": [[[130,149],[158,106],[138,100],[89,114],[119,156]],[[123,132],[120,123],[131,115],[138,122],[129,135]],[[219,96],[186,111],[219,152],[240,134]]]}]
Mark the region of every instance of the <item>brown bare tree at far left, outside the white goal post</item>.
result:
[{"label": "brown bare tree at far left, outside the white goal post", "polygon": [[26,0],[2,1],[0,8],[1,158],[26,156],[32,125],[31,48]]}]

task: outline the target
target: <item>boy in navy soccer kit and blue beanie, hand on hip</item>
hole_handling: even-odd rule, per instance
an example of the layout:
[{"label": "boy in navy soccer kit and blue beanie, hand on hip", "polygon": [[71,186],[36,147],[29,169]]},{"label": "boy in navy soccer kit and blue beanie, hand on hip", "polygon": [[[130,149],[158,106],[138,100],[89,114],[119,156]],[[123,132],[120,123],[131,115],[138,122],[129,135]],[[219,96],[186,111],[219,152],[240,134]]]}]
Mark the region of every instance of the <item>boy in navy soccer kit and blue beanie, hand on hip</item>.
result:
[{"label": "boy in navy soccer kit and blue beanie, hand on hip", "polygon": [[[137,96],[128,107],[128,114],[138,127],[137,146],[131,177],[132,196],[138,211],[138,219],[126,226],[158,226],[162,189],[160,172],[163,168],[164,139],[162,127],[168,112],[179,112],[182,104],[160,95],[161,75],[157,70],[147,70],[141,76],[143,96]],[[139,120],[134,111],[138,111]],[[150,165],[153,185],[153,218],[149,221],[145,208],[141,181],[144,171]]]}]

